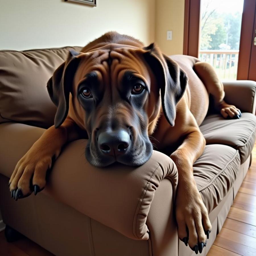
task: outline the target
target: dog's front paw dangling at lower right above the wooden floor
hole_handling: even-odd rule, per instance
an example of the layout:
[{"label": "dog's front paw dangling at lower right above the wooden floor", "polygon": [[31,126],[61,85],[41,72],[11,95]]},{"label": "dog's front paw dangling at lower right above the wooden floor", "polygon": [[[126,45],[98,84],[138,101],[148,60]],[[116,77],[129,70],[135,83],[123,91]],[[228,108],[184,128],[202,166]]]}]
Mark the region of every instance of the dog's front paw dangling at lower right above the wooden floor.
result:
[{"label": "dog's front paw dangling at lower right above the wooden floor", "polygon": [[176,199],[178,237],[185,245],[201,253],[206,246],[212,225],[197,188],[178,192]]}]

